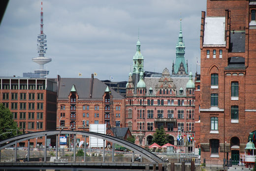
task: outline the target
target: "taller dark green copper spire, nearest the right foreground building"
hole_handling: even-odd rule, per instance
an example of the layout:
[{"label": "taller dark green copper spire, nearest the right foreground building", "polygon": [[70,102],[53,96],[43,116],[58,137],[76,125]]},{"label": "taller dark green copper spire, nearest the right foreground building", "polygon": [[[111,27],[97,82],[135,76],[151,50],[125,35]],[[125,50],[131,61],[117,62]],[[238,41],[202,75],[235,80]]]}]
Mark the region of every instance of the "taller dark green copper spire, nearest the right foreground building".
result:
[{"label": "taller dark green copper spire, nearest the right foreground building", "polygon": [[179,32],[178,42],[176,44],[176,60],[175,60],[173,74],[178,74],[179,70],[181,70],[182,68],[184,68],[185,70],[185,73],[183,74],[188,74],[188,68],[185,61],[185,43],[183,41],[181,19],[180,19],[180,32]]}]

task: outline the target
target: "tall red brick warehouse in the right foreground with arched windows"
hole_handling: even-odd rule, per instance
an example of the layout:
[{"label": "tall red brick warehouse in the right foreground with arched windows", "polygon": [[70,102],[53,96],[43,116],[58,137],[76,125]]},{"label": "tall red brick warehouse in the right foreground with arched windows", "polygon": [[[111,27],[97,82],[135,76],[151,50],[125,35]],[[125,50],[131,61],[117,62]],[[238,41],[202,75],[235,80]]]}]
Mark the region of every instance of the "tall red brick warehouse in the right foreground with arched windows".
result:
[{"label": "tall red brick warehouse in the right foreground with arched windows", "polygon": [[207,0],[200,49],[201,158],[239,161],[256,129],[256,1]]}]

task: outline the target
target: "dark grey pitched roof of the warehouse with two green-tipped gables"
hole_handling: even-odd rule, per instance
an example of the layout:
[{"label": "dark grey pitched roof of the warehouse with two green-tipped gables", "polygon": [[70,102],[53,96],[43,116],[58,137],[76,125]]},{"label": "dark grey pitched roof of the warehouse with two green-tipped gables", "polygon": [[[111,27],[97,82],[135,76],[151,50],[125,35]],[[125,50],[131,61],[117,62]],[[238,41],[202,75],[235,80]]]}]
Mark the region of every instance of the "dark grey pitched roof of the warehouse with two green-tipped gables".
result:
[{"label": "dark grey pitched roof of the warehouse with two green-tipped gables", "polygon": [[[91,78],[61,78],[58,99],[68,99],[72,86],[75,86],[79,99],[91,99]],[[102,99],[107,85],[94,78],[92,99]],[[124,99],[122,95],[111,89],[113,99]]]}]

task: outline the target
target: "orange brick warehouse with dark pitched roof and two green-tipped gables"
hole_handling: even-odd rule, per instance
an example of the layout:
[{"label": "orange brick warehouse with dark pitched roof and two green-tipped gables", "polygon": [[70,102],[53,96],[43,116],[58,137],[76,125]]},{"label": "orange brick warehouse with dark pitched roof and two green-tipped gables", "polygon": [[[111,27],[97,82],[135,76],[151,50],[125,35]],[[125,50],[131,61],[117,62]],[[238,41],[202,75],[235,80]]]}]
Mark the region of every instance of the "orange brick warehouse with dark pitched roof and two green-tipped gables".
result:
[{"label": "orange brick warehouse with dark pitched roof and two green-tipped gables", "polygon": [[124,126],[125,98],[93,74],[92,78],[59,77],[58,83],[57,129],[89,131],[92,123]]}]

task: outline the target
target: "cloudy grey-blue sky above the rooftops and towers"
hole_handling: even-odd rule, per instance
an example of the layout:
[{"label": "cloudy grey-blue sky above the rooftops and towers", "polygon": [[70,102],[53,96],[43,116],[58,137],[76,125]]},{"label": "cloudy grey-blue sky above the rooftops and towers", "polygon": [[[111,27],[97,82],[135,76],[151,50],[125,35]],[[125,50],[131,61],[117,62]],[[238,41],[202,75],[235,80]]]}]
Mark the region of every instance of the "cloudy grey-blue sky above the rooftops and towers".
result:
[{"label": "cloudy grey-blue sky above the rooftops and towers", "polygon": [[[22,77],[39,65],[37,54],[41,0],[9,0],[0,25],[0,76]],[[182,19],[185,59],[196,72],[200,61],[201,11],[206,0],[43,0],[47,35],[47,77],[114,78],[128,81],[136,42],[144,70],[171,73]],[[200,72],[199,66],[197,71]]]}]

